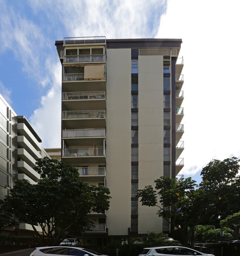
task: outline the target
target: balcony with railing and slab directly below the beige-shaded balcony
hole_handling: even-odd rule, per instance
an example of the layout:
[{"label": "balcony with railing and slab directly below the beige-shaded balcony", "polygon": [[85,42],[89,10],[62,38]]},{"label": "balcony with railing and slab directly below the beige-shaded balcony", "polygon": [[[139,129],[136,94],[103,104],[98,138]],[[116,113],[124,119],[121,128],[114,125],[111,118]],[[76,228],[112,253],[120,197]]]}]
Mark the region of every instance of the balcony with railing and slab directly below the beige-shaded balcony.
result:
[{"label": "balcony with railing and slab directly below the beige-shaded balcony", "polygon": [[98,92],[64,92],[62,102],[68,110],[106,109],[106,93]]}]

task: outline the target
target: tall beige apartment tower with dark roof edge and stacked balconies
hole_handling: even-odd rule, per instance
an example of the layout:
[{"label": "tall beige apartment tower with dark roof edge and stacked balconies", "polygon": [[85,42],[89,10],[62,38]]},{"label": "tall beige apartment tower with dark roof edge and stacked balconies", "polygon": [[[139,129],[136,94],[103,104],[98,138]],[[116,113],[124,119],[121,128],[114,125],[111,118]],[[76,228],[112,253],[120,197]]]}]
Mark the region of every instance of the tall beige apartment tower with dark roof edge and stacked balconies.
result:
[{"label": "tall beige apartment tower with dark roof edge and stacked balconies", "polygon": [[106,214],[84,244],[169,232],[157,208],[142,206],[138,189],[161,175],[176,177],[184,125],[181,39],[74,37],[56,41],[62,64],[62,160],[85,183],[104,185]]}]

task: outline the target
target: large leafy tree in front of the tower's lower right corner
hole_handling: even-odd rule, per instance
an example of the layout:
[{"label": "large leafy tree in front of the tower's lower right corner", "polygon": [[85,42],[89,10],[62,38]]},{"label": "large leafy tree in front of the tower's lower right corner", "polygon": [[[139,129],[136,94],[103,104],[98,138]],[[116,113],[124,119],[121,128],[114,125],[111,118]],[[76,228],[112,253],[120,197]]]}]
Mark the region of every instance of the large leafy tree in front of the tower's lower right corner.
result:
[{"label": "large leafy tree in front of the tower's lower right corner", "polygon": [[[160,177],[155,180],[155,190],[146,186],[138,190],[140,202],[146,206],[158,206],[158,216],[167,219],[178,229],[182,242],[189,238],[194,242],[194,228],[210,216],[227,208],[234,198],[239,198],[239,160],[236,157],[223,161],[210,161],[202,169],[202,182],[197,185],[191,178],[180,180]],[[236,206],[238,209],[240,205]]]}]

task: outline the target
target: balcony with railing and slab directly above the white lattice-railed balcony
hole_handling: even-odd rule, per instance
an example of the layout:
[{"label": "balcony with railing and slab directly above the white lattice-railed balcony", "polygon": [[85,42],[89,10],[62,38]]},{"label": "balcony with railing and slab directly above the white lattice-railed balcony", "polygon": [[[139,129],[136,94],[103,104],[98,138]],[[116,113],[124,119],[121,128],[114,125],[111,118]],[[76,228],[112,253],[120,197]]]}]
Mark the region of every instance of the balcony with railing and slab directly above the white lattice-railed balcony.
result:
[{"label": "balcony with railing and slab directly above the white lattice-railed balcony", "polygon": [[[62,120],[66,129],[106,127],[105,110],[63,111]],[[81,120],[81,122],[79,122]]]}]

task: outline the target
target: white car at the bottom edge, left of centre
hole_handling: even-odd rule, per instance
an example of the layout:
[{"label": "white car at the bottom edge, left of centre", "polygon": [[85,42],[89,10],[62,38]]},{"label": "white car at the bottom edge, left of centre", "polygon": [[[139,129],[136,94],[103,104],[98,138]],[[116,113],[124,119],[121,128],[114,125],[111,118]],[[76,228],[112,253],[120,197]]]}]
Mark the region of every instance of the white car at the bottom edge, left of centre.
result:
[{"label": "white car at the bottom edge, left of centre", "polygon": [[48,246],[37,247],[30,256],[52,256],[52,255],[72,255],[72,256],[107,256],[102,253],[93,252],[88,249],[73,246]]}]

